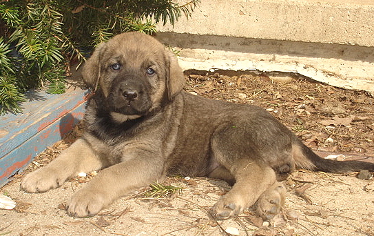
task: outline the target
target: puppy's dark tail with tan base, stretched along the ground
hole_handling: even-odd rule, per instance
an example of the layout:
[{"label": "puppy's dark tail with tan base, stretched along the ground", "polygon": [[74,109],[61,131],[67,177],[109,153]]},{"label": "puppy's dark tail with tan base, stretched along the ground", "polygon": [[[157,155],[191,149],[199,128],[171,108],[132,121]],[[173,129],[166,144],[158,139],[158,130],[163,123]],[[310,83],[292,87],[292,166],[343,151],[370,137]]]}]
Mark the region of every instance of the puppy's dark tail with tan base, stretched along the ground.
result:
[{"label": "puppy's dark tail with tan base, stretched along the ground", "polygon": [[292,152],[296,166],[307,170],[330,173],[349,173],[360,170],[374,171],[374,163],[366,161],[335,161],[333,159],[324,159],[313,153],[297,137],[293,140]]}]

